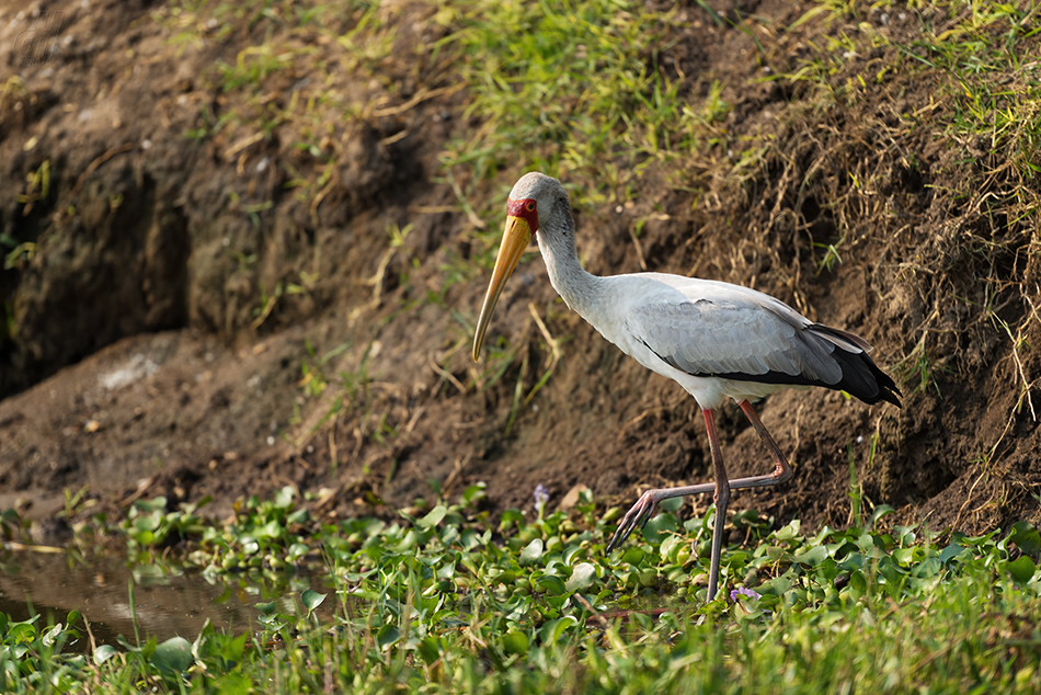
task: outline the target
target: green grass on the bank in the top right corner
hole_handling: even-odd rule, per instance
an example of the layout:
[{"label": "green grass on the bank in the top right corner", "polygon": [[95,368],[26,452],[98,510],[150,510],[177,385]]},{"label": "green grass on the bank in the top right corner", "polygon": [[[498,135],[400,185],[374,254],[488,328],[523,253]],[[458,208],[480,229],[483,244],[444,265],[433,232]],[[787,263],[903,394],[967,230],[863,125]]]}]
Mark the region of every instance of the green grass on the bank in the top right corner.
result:
[{"label": "green grass on the bank in the top right corner", "polygon": [[[918,33],[911,41],[894,37],[879,26],[882,13],[890,22],[913,16]],[[966,155],[982,149],[982,157],[962,163],[979,166],[992,185],[1007,180],[1010,195],[1004,202],[1025,207],[1017,212],[1026,214],[1037,209],[1038,201],[1023,183],[1041,172],[1041,66],[1034,60],[1041,45],[1039,14],[1036,2],[821,2],[796,26],[823,19],[828,33],[810,43],[790,71],[767,79],[812,84],[815,93],[805,101],[820,110],[869,100],[885,103],[888,86],[929,83],[935,101],[901,113],[895,128],[881,127],[890,130],[885,139],[896,144],[925,129]],[[870,55],[882,58],[856,60]]]}]

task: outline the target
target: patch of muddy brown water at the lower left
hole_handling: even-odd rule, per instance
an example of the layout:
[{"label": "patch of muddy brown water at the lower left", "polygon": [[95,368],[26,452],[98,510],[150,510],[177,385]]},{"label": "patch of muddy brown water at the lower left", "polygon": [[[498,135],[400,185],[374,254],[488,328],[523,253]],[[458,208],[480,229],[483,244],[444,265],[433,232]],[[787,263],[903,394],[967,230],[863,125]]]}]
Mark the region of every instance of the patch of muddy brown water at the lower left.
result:
[{"label": "patch of muddy brown water at the lower left", "polygon": [[[79,611],[98,645],[117,646],[118,636],[130,643],[178,635],[192,640],[207,619],[218,630],[247,631],[256,627],[258,603],[275,602],[294,613],[307,589],[331,592],[325,572],[208,577],[175,565],[131,567],[118,558],[0,548],[0,612],[15,620],[39,614],[64,623]],[[90,648],[85,636],[80,641],[70,648]]]}]

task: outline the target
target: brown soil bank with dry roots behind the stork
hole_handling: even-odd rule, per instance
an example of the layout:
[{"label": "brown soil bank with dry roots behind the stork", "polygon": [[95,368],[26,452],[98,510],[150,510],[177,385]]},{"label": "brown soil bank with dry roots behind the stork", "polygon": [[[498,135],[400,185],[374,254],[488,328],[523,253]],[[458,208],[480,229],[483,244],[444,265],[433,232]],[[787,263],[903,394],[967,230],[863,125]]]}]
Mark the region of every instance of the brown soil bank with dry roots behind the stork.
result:
[{"label": "brown soil bank with dry roots behind the stork", "polygon": [[[503,510],[530,508],[539,483],[558,501],[584,483],[628,504],[642,487],[710,477],[694,401],[570,314],[540,260],[517,271],[490,330],[518,346],[515,363],[492,381],[470,362],[487,276],[445,280],[476,237],[438,155],[478,122],[444,69],[401,59],[382,81],[336,71],[329,89],[375,106],[331,126],[325,145],[346,163],[305,203],[286,186],[313,170],[294,147],[300,134],[185,137],[206,110],[245,107],[207,76],[263,39],[259,29],[185,48],[145,0],[58,1],[46,8],[64,13],[56,48],[26,62],[13,48],[31,26],[23,4],[0,0],[3,65],[23,84],[0,98],[0,231],[37,246],[0,274],[11,327],[0,343],[0,509],[52,517],[85,487],[104,505],[210,495],[205,510],[225,514],[242,495],[293,485],[334,519],[433,499],[432,481],[453,499],[484,481]],[[831,106],[811,87],[758,79],[855,24],[786,30],[809,5],[712,4],[754,13],[757,29],[691,23],[659,67],[691,100],[719,80],[732,106],[723,127],[778,145],[745,178],[722,176],[727,155],[706,152],[679,172],[698,195],[651,168],[634,204],[580,204],[583,258],[595,273],[645,267],[774,294],[863,335],[904,391],[901,410],[823,390],[767,399],[763,420],[796,476],[735,506],[846,524],[849,447],[867,499],[904,521],[970,532],[1039,521],[1037,205],[995,212],[1008,186],[1037,201],[1038,184],[1014,181],[985,143],[937,137],[935,84],[920,76],[896,72]],[[439,37],[430,12],[387,10],[399,56]],[[341,21],[345,32],[357,18]],[[907,11],[884,31],[910,42],[922,21]],[[341,59],[334,44],[314,49]],[[833,82],[886,60],[853,57]],[[286,102],[307,78],[265,84],[270,100]],[[895,127],[911,117],[922,127]],[[44,162],[49,191],[26,197]],[[478,191],[504,205],[519,173]],[[393,225],[412,225],[397,247]],[[840,236],[843,262],[819,272],[814,242]],[[526,396],[551,364],[533,312],[560,362],[507,435],[517,385]],[[740,415],[720,417],[731,471],[764,471]]]}]

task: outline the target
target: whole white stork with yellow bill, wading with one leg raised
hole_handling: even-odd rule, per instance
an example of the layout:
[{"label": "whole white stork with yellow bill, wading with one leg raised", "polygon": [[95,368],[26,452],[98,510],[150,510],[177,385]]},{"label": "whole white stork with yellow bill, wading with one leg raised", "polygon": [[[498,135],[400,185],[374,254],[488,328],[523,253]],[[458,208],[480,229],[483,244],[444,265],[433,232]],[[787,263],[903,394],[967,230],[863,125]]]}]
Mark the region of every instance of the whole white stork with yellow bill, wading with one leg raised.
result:
[{"label": "whole white stork with yellow bill, wading with one leg raised", "polygon": [[[474,335],[474,360],[499,294],[536,233],[550,282],[568,306],[644,367],[677,381],[701,407],[716,482],[649,490],[622,519],[608,549],[645,523],[660,501],[713,491],[711,601],[730,490],[777,485],[791,475],[751,401],[781,388],[823,386],[845,390],[868,403],[885,400],[899,406],[896,385],[868,356],[871,348],[863,340],[813,323],[760,292],[664,273],[608,277],[587,273],[579,262],[568,194],[556,179],[539,173],[523,176],[511,192],[507,214],[503,246]],[[713,413],[727,399],[739,403],[769,448],[773,474],[728,479]]]}]

